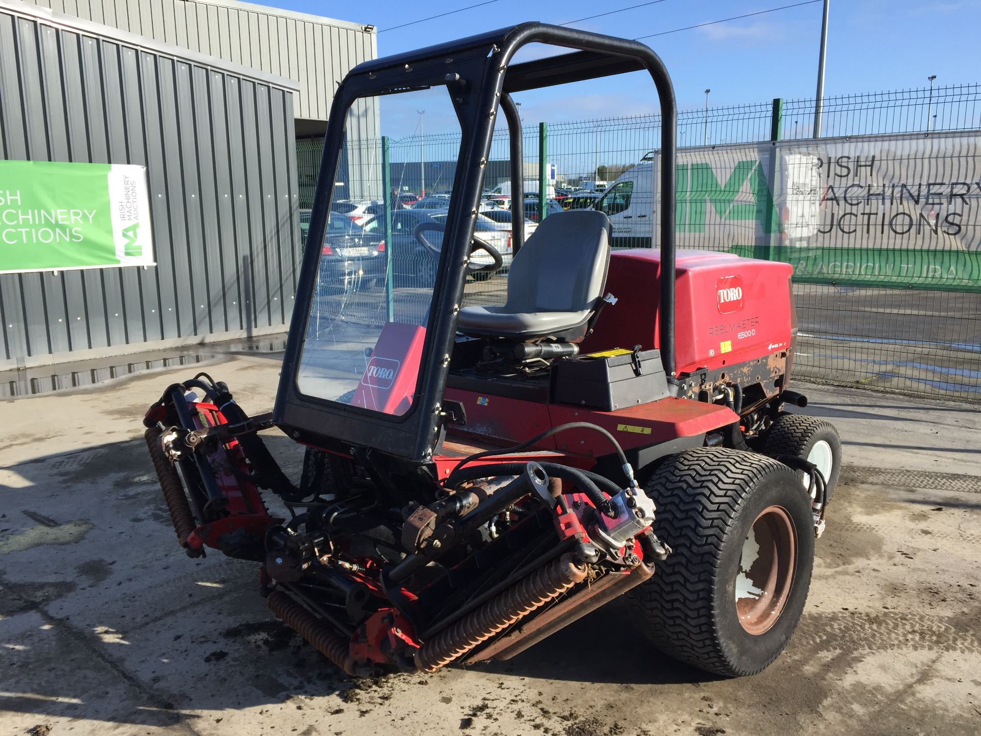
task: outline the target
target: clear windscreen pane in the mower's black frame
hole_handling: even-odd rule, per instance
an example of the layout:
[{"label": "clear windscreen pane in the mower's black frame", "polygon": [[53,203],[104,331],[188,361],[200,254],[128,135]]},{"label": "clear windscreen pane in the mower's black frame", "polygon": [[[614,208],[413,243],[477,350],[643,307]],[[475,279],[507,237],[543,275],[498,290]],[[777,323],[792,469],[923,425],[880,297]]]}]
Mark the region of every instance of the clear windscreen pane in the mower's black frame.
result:
[{"label": "clear windscreen pane in the mower's black frame", "polygon": [[459,145],[442,86],[349,109],[325,235],[304,245],[320,261],[301,394],[394,416],[412,407]]}]

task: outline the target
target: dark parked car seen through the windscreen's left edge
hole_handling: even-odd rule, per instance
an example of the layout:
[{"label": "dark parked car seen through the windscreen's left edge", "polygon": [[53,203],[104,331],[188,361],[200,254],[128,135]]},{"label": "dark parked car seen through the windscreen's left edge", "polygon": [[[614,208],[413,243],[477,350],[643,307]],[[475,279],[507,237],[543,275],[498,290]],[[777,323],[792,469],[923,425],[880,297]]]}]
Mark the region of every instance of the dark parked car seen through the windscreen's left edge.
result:
[{"label": "dark parked car seen through the windscreen's left edge", "polygon": [[[310,210],[300,210],[300,239],[306,243]],[[328,286],[370,288],[385,275],[386,242],[381,234],[365,230],[346,215],[331,212],[327,220],[320,273]]]}]

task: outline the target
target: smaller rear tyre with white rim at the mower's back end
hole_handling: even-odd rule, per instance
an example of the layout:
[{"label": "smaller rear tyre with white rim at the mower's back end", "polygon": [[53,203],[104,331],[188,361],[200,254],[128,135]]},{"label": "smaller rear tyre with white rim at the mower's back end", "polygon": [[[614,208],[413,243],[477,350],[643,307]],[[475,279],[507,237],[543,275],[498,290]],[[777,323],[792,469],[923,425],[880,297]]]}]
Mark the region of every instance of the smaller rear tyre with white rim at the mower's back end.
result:
[{"label": "smaller rear tyre with white rim at the mower's back end", "polygon": [[[790,455],[813,462],[824,476],[828,500],[831,500],[842,470],[842,439],[833,424],[804,414],[783,413],[766,430],[762,452],[778,459],[780,455]],[[794,472],[807,488],[809,474],[802,470]]]}]

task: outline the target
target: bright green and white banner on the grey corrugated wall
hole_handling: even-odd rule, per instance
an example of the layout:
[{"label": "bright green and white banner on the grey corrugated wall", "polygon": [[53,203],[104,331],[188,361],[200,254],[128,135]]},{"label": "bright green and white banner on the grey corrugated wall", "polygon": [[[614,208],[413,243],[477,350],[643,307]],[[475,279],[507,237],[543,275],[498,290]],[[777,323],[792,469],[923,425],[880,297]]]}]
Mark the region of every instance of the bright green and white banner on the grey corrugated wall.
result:
[{"label": "bright green and white banner on the grey corrugated wall", "polygon": [[0,273],[152,265],[144,167],[0,161]]}]

